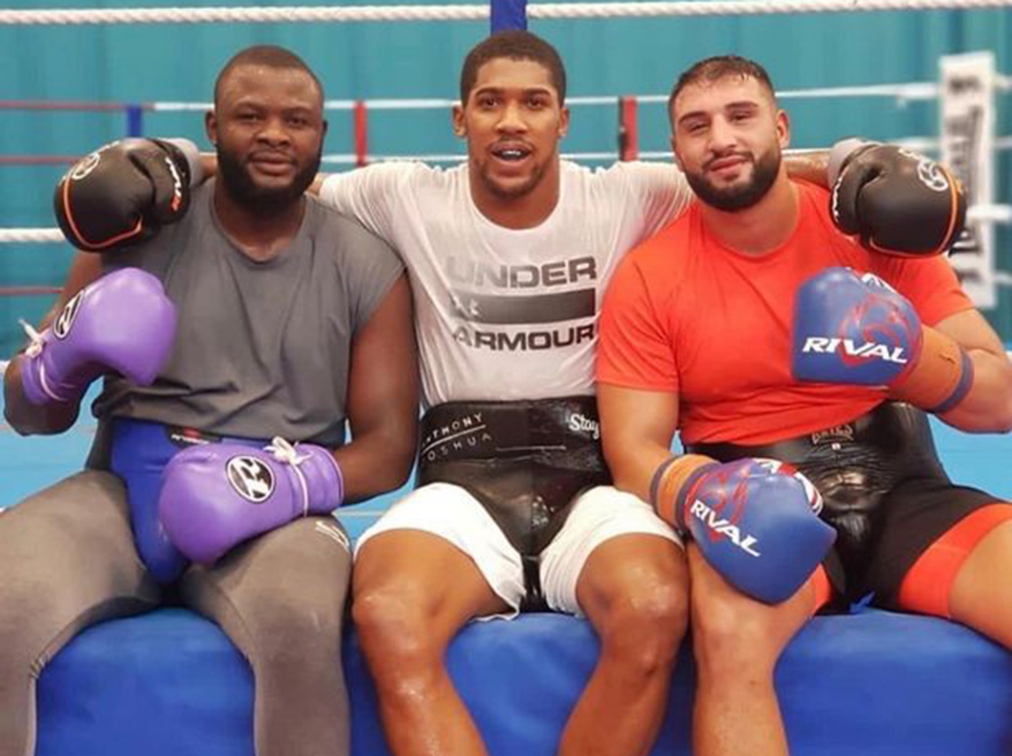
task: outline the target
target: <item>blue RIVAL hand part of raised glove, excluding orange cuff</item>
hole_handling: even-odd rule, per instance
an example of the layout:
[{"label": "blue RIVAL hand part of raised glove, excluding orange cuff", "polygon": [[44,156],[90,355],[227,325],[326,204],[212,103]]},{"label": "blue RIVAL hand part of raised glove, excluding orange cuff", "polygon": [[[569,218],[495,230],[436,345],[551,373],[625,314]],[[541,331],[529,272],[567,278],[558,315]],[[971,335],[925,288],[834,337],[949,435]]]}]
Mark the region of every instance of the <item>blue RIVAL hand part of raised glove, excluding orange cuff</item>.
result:
[{"label": "blue RIVAL hand part of raised glove, excluding orange cuff", "polygon": [[921,354],[921,319],[880,278],[826,268],[794,300],[791,372],[798,381],[887,386]]}]

